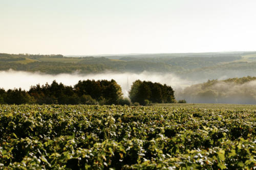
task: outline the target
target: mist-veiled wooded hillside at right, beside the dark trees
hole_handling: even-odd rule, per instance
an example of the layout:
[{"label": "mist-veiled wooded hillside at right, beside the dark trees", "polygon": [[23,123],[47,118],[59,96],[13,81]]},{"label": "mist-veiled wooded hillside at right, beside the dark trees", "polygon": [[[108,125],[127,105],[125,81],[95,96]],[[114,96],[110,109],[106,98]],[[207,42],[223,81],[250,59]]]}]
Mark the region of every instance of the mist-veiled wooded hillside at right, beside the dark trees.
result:
[{"label": "mist-veiled wooded hillside at right, beside the dark trees", "polygon": [[177,95],[189,103],[256,104],[256,77],[208,80]]}]

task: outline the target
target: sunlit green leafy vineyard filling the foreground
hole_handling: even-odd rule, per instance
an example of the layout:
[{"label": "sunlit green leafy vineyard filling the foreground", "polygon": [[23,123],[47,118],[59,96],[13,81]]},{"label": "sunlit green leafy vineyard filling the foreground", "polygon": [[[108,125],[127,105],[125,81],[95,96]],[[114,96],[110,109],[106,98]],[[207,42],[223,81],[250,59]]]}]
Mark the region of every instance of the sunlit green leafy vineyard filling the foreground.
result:
[{"label": "sunlit green leafy vineyard filling the foreground", "polygon": [[256,111],[0,105],[0,169],[256,169]]}]

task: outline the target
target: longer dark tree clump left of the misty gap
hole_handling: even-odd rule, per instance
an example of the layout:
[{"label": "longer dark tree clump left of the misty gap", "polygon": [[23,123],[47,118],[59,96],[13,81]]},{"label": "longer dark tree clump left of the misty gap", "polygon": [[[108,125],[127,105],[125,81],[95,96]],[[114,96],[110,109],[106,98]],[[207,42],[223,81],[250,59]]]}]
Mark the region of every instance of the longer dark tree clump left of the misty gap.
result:
[{"label": "longer dark tree clump left of the misty gap", "polygon": [[72,86],[53,81],[40,86],[31,86],[29,91],[22,89],[0,89],[0,103],[6,104],[118,104],[122,90],[116,81],[86,80]]}]

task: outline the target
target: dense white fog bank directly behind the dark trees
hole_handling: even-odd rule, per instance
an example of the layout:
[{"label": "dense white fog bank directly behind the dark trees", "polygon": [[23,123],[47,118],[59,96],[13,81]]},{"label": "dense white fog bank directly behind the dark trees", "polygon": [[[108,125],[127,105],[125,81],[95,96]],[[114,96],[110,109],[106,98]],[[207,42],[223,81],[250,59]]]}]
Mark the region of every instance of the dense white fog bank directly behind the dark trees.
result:
[{"label": "dense white fog bank directly behind the dark trees", "polygon": [[114,73],[114,72],[105,72],[103,74],[88,74],[88,75],[80,75],[80,74],[59,74],[59,75],[47,75],[41,74],[39,72],[32,73],[26,71],[0,71],[0,88],[4,88],[5,90],[13,89],[13,88],[22,88],[25,90],[29,90],[30,86],[34,86],[36,84],[49,84],[52,83],[53,80],[56,80],[58,83],[63,83],[67,86],[75,85],[79,80],[111,80],[114,79],[122,88],[124,96],[128,96],[128,91],[131,88],[131,85],[136,80],[142,81],[152,81],[159,82],[161,84],[166,84],[171,86],[174,90],[179,88],[185,88],[190,86],[191,84],[199,83],[193,81],[187,81],[179,78],[173,74],[152,74],[149,72],[142,72],[140,74],[125,72],[125,73]]}]

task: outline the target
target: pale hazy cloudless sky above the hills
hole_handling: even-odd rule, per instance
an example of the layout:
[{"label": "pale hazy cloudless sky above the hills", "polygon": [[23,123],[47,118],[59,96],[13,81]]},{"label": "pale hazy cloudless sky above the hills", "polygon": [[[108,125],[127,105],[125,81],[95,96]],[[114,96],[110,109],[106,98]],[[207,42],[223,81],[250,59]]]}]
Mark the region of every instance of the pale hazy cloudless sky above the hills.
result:
[{"label": "pale hazy cloudless sky above the hills", "polygon": [[0,53],[256,50],[255,0],[0,0]]}]

